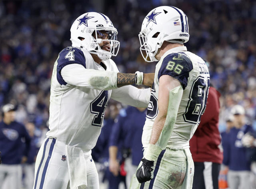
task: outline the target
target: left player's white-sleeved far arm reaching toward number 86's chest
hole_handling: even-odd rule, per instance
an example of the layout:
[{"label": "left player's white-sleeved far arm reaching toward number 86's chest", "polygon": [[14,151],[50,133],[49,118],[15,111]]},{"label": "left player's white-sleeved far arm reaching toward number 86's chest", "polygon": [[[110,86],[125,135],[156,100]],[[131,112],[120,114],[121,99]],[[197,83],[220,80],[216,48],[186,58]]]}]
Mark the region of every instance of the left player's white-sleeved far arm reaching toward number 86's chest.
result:
[{"label": "left player's white-sleeved far arm reaching toward number 86's chest", "polygon": [[151,91],[134,86],[123,86],[112,90],[111,98],[134,107],[148,107]]}]

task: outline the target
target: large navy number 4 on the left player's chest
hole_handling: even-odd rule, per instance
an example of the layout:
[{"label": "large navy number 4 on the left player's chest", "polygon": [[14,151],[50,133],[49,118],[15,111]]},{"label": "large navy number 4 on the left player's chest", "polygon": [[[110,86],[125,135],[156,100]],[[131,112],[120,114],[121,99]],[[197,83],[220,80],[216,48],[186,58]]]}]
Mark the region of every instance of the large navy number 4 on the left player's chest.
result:
[{"label": "large navy number 4 on the left player's chest", "polygon": [[90,111],[96,114],[92,120],[92,125],[101,127],[106,106],[108,104],[108,91],[102,91],[98,97],[90,103]]}]

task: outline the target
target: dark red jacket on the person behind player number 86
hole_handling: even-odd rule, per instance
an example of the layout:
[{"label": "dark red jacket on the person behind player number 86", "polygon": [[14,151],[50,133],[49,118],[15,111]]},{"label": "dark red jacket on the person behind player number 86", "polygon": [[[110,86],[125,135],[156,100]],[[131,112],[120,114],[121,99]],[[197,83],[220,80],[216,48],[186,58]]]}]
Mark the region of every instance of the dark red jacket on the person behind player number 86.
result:
[{"label": "dark red jacket on the person behind player number 86", "polygon": [[200,124],[190,139],[190,151],[194,162],[210,161],[222,163],[223,153],[219,149],[221,142],[218,129],[220,113],[220,93],[210,87],[206,110],[201,117]]}]

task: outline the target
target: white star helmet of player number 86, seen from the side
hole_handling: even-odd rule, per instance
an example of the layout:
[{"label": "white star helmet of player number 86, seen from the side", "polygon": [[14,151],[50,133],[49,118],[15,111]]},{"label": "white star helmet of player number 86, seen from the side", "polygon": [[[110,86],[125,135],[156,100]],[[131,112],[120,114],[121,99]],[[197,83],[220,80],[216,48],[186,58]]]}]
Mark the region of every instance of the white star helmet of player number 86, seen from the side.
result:
[{"label": "white star helmet of player number 86, seen from the side", "polygon": [[188,18],[174,6],[154,8],[143,20],[139,38],[144,60],[158,61],[155,55],[164,41],[180,44],[188,42]]}]

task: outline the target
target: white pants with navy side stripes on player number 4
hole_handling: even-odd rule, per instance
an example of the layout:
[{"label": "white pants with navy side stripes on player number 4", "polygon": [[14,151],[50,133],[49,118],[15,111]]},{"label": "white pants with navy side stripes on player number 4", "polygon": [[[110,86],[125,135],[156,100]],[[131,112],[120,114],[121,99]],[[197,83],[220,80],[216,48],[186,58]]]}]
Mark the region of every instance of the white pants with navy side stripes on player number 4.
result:
[{"label": "white pants with navy side stripes on player number 4", "polygon": [[[88,152],[84,152],[88,154]],[[91,155],[86,155],[86,189],[99,189],[98,173]],[[45,139],[36,157],[33,189],[69,189],[66,145],[56,139]]]}]

